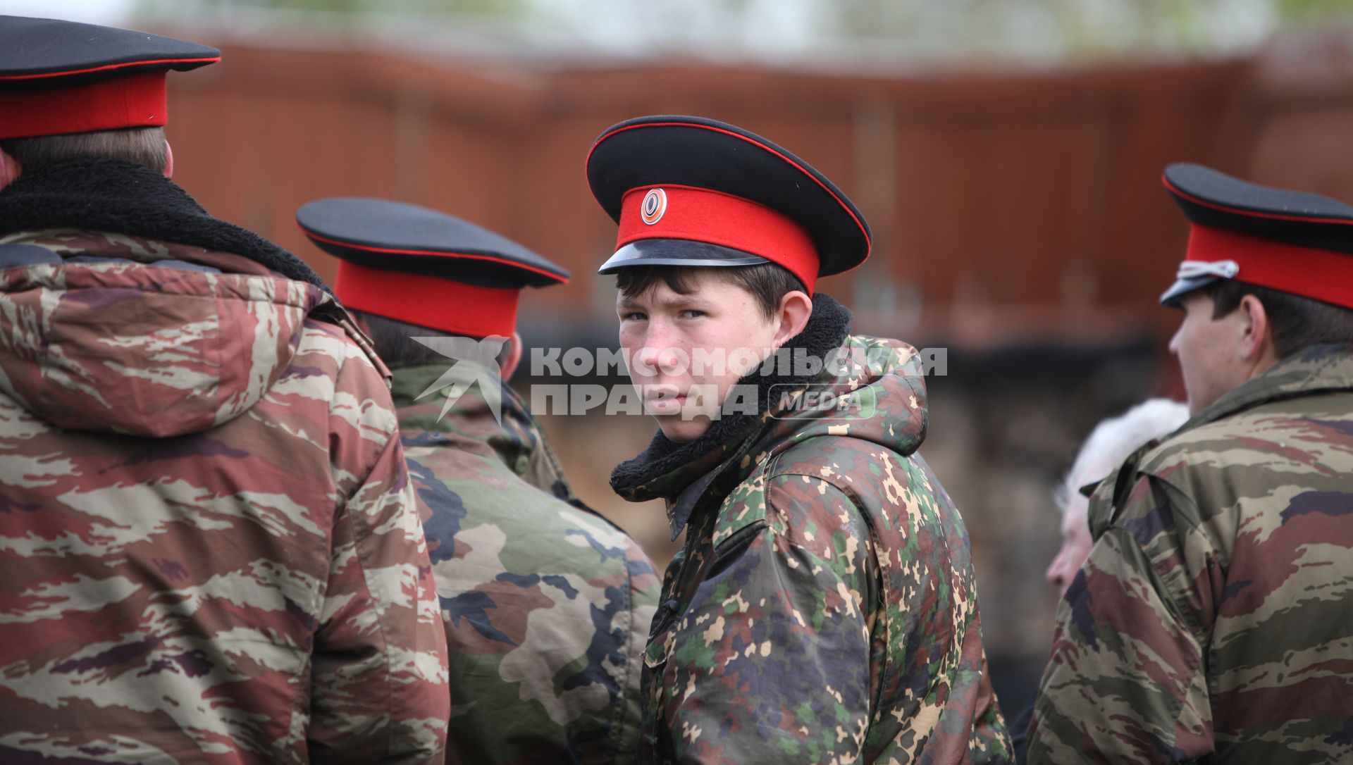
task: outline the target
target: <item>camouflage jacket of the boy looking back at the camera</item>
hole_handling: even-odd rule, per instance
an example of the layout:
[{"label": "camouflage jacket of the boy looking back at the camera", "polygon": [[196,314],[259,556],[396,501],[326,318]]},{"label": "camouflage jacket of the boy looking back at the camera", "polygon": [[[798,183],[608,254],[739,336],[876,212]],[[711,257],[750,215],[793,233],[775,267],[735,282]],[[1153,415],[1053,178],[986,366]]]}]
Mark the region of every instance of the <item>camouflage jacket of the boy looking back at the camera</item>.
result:
[{"label": "camouflage jacket of the boy looking back at the camera", "polygon": [[687,534],[648,641],[645,762],[1008,761],[967,533],[916,454],[920,364],[844,350],[815,384],[836,408],[777,404],[630,492]]}]

